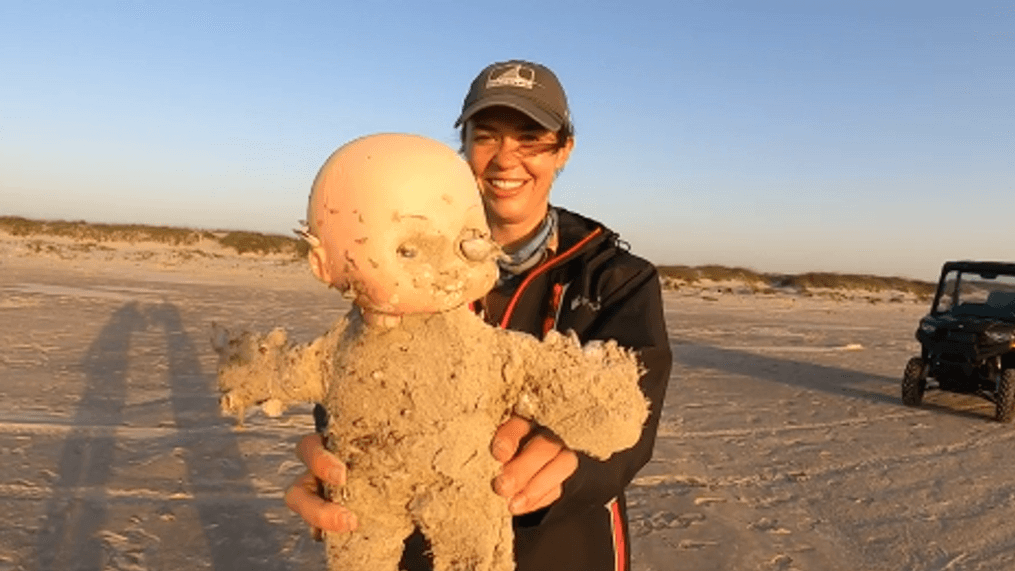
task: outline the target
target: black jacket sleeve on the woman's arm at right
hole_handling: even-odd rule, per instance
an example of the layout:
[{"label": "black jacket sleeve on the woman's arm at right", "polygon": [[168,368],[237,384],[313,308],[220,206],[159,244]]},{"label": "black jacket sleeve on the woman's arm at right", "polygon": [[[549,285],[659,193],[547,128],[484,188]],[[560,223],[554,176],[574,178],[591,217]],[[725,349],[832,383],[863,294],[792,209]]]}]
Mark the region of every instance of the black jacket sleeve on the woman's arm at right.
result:
[{"label": "black jacket sleeve on the woman's arm at right", "polygon": [[594,287],[598,311],[589,327],[578,333],[583,343],[613,339],[619,345],[637,351],[646,369],[639,385],[650,402],[649,418],[634,446],[616,452],[606,460],[579,453],[578,471],[564,482],[561,498],[548,508],[544,515],[547,520],[573,515],[593,506],[603,506],[620,495],[652,457],[656,443],[673,363],[663,311],[662,287],[659,273],[648,262],[627,255],[626,263],[619,266],[606,270],[599,278],[599,285]]}]

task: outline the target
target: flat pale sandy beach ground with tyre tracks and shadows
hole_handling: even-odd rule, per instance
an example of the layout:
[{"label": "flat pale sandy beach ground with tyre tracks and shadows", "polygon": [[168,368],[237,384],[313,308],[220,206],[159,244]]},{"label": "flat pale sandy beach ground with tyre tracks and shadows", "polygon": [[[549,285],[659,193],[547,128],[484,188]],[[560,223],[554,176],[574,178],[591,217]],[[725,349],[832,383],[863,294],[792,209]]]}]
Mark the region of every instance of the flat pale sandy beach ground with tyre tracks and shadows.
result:
[{"label": "flat pale sandy beach ground with tyre tracks and shadows", "polygon": [[[1015,429],[903,407],[926,303],[838,297],[667,292],[634,571],[1015,569]],[[236,430],[208,338],[346,308],[301,263],[0,233],[0,571],[323,569],[281,500],[309,409]]]}]

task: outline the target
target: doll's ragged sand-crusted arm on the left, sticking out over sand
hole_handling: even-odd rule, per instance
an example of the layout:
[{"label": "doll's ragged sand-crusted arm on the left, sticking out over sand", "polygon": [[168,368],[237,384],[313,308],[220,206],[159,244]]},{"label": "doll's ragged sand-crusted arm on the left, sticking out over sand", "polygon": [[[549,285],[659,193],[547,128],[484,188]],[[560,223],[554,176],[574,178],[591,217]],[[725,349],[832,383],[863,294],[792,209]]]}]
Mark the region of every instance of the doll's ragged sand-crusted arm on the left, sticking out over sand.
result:
[{"label": "doll's ragged sand-crusted arm on the left, sticking out over sand", "polygon": [[242,423],[253,405],[261,405],[268,416],[278,416],[294,404],[321,402],[347,325],[345,318],[339,319],[325,335],[299,345],[290,342],[282,329],[231,336],[213,326],[222,414],[234,414]]}]

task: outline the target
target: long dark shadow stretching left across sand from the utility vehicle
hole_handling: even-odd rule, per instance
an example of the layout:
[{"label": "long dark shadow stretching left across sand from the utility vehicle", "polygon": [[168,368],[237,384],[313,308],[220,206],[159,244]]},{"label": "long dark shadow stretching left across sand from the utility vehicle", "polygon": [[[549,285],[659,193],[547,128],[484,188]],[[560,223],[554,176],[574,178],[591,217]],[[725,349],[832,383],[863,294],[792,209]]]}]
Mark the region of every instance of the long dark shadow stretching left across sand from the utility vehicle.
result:
[{"label": "long dark shadow stretching left across sand from the utility vehicle", "polygon": [[[880,405],[904,407],[900,394],[902,363],[898,377],[888,377],[858,370],[843,369],[805,361],[759,355],[725,347],[702,345],[671,338],[674,363],[691,368],[715,369],[724,372],[821,390],[848,398],[863,399]],[[891,392],[872,390],[866,386],[886,385]],[[970,397],[971,398],[971,397]],[[978,398],[977,398],[978,399]],[[924,401],[923,409],[957,417],[983,420],[984,414],[974,410],[958,409]]]}]

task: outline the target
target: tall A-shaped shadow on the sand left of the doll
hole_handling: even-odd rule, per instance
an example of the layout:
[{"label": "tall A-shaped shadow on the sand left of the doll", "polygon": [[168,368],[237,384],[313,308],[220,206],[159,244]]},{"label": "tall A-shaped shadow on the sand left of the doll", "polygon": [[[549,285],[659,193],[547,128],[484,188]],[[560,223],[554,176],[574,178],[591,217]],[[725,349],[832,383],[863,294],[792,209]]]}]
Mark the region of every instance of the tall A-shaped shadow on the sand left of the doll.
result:
[{"label": "tall A-shaped shadow on the sand left of the doll", "polygon": [[137,302],[113,313],[82,361],[85,386],[74,426],[84,428],[71,430],[63,444],[38,540],[39,569],[103,568],[98,534],[107,524],[108,506],[118,501],[106,489],[113,484],[118,460],[115,429],[127,406],[131,341],[152,332],[163,339],[170,405],[182,434],[172,440],[187,452],[187,491],[205,537],[196,549],[210,552],[215,571],[288,571],[265,514],[245,501],[256,497],[251,474],[235,436],[221,429],[228,421],[219,417],[214,381],[201,370],[179,309]]}]

